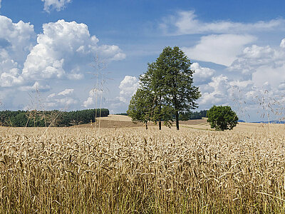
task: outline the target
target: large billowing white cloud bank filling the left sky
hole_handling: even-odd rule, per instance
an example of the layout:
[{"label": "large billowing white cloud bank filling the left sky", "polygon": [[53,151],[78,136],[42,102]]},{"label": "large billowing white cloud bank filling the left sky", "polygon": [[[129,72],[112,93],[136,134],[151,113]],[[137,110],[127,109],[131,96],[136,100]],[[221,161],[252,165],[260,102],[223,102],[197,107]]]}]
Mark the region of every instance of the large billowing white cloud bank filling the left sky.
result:
[{"label": "large billowing white cloud bank filling the left sky", "polygon": [[[9,103],[14,103],[12,99],[19,96],[17,93],[46,93],[61,88],[61,83],[67,81],[86,80],[90,76],[88,72],[93,71],[90,65],[96,55],[107,63],[125,58],[118,46],[100,44],[95,35],[90,35],[86,24],[76,21],[43,24],[42,33],[36,35],[32,24],[14,23],[0,16],[0,32],[0,98],[8,98],[1,92],[10,91]],[[73,90],[67,88],[55,97],[49,96],[46,106],[65,109],[64,105],[75,105],[73,107],[78,108],[84,96],[76,98],[78,94]]]}]

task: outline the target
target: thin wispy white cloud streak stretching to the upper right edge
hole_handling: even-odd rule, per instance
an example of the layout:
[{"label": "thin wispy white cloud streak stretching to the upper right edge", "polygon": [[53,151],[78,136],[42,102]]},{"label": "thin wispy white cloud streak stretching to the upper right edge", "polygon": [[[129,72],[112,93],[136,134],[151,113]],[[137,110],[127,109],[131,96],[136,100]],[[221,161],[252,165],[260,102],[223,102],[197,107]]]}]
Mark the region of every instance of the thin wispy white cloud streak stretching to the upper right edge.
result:
[{"label": "thin wispy white cloud streak stretching to the upper right edge", "polygon": [[257,23],[244,24],[232,21],[203,22],[197,19],[195,11],[180,11],[176,16],[164,19],[160,27],[167,34],[240,34],[257,31],[273,31],[284,29],[284,19],[271,21],[258,21]]}]

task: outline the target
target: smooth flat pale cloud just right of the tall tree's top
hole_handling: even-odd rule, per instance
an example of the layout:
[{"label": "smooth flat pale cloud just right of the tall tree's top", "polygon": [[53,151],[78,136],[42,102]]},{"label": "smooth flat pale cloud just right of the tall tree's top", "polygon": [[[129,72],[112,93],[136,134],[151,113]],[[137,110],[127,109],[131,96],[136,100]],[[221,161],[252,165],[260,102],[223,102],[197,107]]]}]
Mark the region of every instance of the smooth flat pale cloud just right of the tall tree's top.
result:
[{"label": "smooth flat pale cloud just right of the tall tree's top", "polygon": [[230,66],[244,46],[252,41],[254,41],[254,36],[249,35],[209,35],[202,36],[195,47],[182,49],[189,58]]}]

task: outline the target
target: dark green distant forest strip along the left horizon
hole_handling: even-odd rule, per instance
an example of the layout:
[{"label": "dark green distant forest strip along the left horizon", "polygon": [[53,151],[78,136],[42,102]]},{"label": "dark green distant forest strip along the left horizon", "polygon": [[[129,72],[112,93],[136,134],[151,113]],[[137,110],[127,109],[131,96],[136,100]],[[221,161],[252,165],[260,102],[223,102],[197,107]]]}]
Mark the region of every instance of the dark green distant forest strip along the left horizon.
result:
[{"label": "dark green distant forest strip along the left horizon", "polygon": [[82,111],[0,111],[0,125],[13,127],[74,126],[95,122],[96,117],[106,117],[109,110],[88,109]]}]

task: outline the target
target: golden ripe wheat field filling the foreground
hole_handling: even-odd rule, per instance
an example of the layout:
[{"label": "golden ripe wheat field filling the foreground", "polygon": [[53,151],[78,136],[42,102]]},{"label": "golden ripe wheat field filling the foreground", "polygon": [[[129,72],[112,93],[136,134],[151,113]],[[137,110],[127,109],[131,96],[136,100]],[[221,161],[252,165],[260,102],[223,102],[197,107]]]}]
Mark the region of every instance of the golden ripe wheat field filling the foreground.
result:
[{"label": "golden ripe wheat field filling the foreground", "polygon": [[1,127],[0,213],[285,213],[284,156],[284,125]]}]

